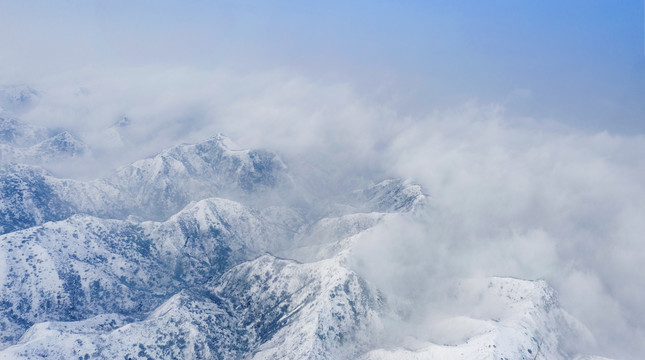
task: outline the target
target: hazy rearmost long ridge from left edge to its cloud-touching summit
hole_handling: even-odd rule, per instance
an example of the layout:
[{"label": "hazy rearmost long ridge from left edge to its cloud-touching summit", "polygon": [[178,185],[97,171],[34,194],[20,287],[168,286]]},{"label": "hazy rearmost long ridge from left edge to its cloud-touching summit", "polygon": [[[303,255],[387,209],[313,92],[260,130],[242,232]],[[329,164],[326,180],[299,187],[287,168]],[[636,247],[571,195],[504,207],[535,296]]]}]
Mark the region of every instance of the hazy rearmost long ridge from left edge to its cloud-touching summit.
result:
[{"label": "hazy rearmost long ridge from left edge to its cloud-touching summit", "polygon": [[209,197],[258,206],[299,201],[276,154],[238,150],[221,135],[170,148],[94,181],[58,179],[39,167],[11,164],[0,170],[0,187],[0,232],[59,220],[70,212],[162,220]]}]

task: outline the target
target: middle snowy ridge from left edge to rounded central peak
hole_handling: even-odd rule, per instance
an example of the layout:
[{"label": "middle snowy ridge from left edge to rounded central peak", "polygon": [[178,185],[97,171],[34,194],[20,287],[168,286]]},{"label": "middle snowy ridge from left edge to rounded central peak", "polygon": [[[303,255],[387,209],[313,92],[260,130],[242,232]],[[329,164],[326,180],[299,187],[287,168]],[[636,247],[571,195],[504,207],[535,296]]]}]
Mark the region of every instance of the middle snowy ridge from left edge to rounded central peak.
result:
[{"label": "middle snowy ridge from left edge to rounded central peak", "polygon": [[163,223],[74,215],[2,235],[2,342],[36,322],[152,310],[289,235],[279,220],[224,199],[191,204]]}]

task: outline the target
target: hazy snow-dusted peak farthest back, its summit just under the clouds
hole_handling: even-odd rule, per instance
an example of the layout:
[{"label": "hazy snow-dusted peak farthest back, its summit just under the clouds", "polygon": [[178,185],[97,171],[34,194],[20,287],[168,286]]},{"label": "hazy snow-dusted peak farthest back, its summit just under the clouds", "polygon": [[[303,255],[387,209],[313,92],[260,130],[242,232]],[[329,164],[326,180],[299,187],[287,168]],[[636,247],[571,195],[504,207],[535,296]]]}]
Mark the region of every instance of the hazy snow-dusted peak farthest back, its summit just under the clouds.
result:
[{"label": "hazy snow-dusted peak farthest back, its summit just under the clouds", "polygon": [[262,205],[263,201],[280,203],[291,195],[278,192],[290,190],[291,183],[285,164],[276,154],[239,149],[222,135],[137,161],[95,186],[116,189],[118,201],[129,203],[126,212],[151,219],[166,218],[190,201],[206,197]]}]

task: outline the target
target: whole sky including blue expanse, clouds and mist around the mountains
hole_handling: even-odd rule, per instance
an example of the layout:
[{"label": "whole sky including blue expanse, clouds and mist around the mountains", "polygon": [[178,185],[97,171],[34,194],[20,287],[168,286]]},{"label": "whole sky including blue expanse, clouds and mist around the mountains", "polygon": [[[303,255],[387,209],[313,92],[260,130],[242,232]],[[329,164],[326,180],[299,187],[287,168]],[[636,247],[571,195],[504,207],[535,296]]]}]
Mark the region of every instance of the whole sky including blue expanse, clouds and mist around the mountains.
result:
[{"label": "whole sky including blue expanse, clouds and mist around the mountains", "polygon": [[642,1],[0,9],[0,84],[39,92],[24,120],[91,144],[99,161],[76,170],[223,132],[315,164],[331,190],[410,178],[430,210],[359,249],[370,281],[406,294],[410,279],[546,279],[595,336],[587,350],[645,352]]}]

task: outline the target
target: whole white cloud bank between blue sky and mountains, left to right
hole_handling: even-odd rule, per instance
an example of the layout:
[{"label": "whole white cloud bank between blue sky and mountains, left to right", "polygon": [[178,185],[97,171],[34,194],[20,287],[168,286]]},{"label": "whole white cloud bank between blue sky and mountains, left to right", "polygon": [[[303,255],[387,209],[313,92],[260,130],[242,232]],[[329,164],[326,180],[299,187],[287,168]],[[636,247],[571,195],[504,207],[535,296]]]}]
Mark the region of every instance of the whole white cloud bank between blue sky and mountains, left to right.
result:
[{"label": "whole white cloud bank between blue sky and mountains, left to right", "polygon": [[440,279],[544,278],[594,334],[589,352],[645,353],[642,136],[510,118],[477,102],[402,118],[347,84],[285,72],[86,69],[30,85],[39,98],[20,116],[83,138],[101,164],[86,167],[93,175],[222,132],[294,167],[306,160],[334,191],[411,178],[429,206],[359,244],[368,279],[423,304]]}]

